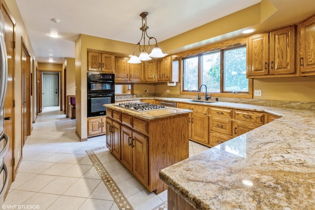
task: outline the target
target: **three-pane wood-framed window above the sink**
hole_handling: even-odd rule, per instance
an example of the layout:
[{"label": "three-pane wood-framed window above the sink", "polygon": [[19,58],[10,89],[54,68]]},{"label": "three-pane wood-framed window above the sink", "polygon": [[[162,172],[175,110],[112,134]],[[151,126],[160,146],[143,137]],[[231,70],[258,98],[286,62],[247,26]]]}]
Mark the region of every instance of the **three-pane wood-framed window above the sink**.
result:
[{"label": "three-pane wood-framed window above the sink", "polygon": [[[204,84],[214,96],[250,94],[252,81],[246,78],[246,59],[245,44],[183,58],[182,92],[196,92]],[[205,92],[204,86],[201,92]]]}]

